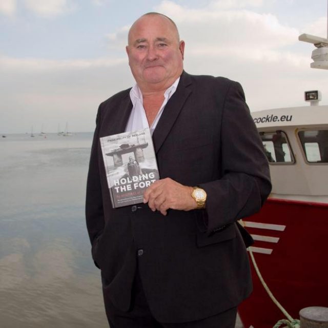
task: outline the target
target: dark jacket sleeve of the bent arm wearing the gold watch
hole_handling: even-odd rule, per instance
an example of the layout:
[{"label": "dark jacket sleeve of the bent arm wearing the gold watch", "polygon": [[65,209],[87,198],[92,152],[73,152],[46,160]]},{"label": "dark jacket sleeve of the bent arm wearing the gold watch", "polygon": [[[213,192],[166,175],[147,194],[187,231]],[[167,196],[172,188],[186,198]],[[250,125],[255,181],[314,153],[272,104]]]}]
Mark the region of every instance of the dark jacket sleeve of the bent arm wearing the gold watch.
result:
[{"label": "dark jacket sleeve of the bent arm wearing the gold watch", "polygon": [[208,234],[258,212],[271,192],[268,160],[237,82],[224,100],[221,125],[221,178],[200,185],[208,195]]}]

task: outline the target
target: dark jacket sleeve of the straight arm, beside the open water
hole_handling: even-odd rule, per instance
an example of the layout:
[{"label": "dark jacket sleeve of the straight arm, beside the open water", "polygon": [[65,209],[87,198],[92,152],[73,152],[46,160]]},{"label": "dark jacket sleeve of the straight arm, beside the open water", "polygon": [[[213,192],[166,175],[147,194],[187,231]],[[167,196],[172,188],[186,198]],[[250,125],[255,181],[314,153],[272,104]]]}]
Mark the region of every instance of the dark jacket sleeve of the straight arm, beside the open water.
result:
[{"label": "dark jacket sleeve of the straight arm, beside the open water", "polygon": [[103,197],[101,194],[99,165],[98,165],[98,148],[99,146],[99,129],[100,129],[100,108],[98,108],[96,118],[96,129],[93,136],[89,173],[87,178],[87,193],[86,193],[86,223],[92,245],[92,257],[96,267],[99,265],[95,261],[95,248],[98,237],[104,230],[104,209]]}]

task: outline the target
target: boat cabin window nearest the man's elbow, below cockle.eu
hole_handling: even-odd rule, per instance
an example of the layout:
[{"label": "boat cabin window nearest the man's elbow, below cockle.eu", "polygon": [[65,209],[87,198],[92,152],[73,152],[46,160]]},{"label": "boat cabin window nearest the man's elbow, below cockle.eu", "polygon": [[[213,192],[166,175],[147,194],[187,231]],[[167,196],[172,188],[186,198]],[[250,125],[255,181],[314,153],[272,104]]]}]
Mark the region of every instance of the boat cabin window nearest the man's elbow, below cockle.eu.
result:
[{"label": "boat cabin window nearest the man's elbow, below cockle.eu", "polygon": [[295,163],[287,136],[283,131],[260,133],[270,163]]}]

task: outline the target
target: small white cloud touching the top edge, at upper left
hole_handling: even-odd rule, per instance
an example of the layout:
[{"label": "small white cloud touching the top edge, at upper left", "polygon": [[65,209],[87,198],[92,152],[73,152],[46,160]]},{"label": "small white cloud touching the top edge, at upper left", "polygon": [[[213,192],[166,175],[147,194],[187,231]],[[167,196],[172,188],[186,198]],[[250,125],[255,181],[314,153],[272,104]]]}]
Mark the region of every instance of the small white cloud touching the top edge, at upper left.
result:
[{"label": "small white cloud touching the top edge, at upper left", "polygon": [[64,14],[74,9],[70,0],[24,0],[25,6],[43,17],[52,17]]}]

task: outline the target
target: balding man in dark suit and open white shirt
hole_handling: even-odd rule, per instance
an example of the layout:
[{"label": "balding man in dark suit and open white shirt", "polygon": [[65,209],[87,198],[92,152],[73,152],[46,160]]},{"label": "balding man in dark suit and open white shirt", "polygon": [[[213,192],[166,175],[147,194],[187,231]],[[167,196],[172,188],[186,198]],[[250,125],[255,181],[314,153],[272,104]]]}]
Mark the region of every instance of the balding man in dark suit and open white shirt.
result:
[{"label": "balding man in dark suit and open white shirt", "polygon": [[[271,191],[240,85],[183,71],[172,20],[141,16],[126,48],[136,80],[99,106],[86,216],[111,328],[234,327],[252,290],[236,220]],[[113,209],[99,137],[150,127],[161,179]]]}]

